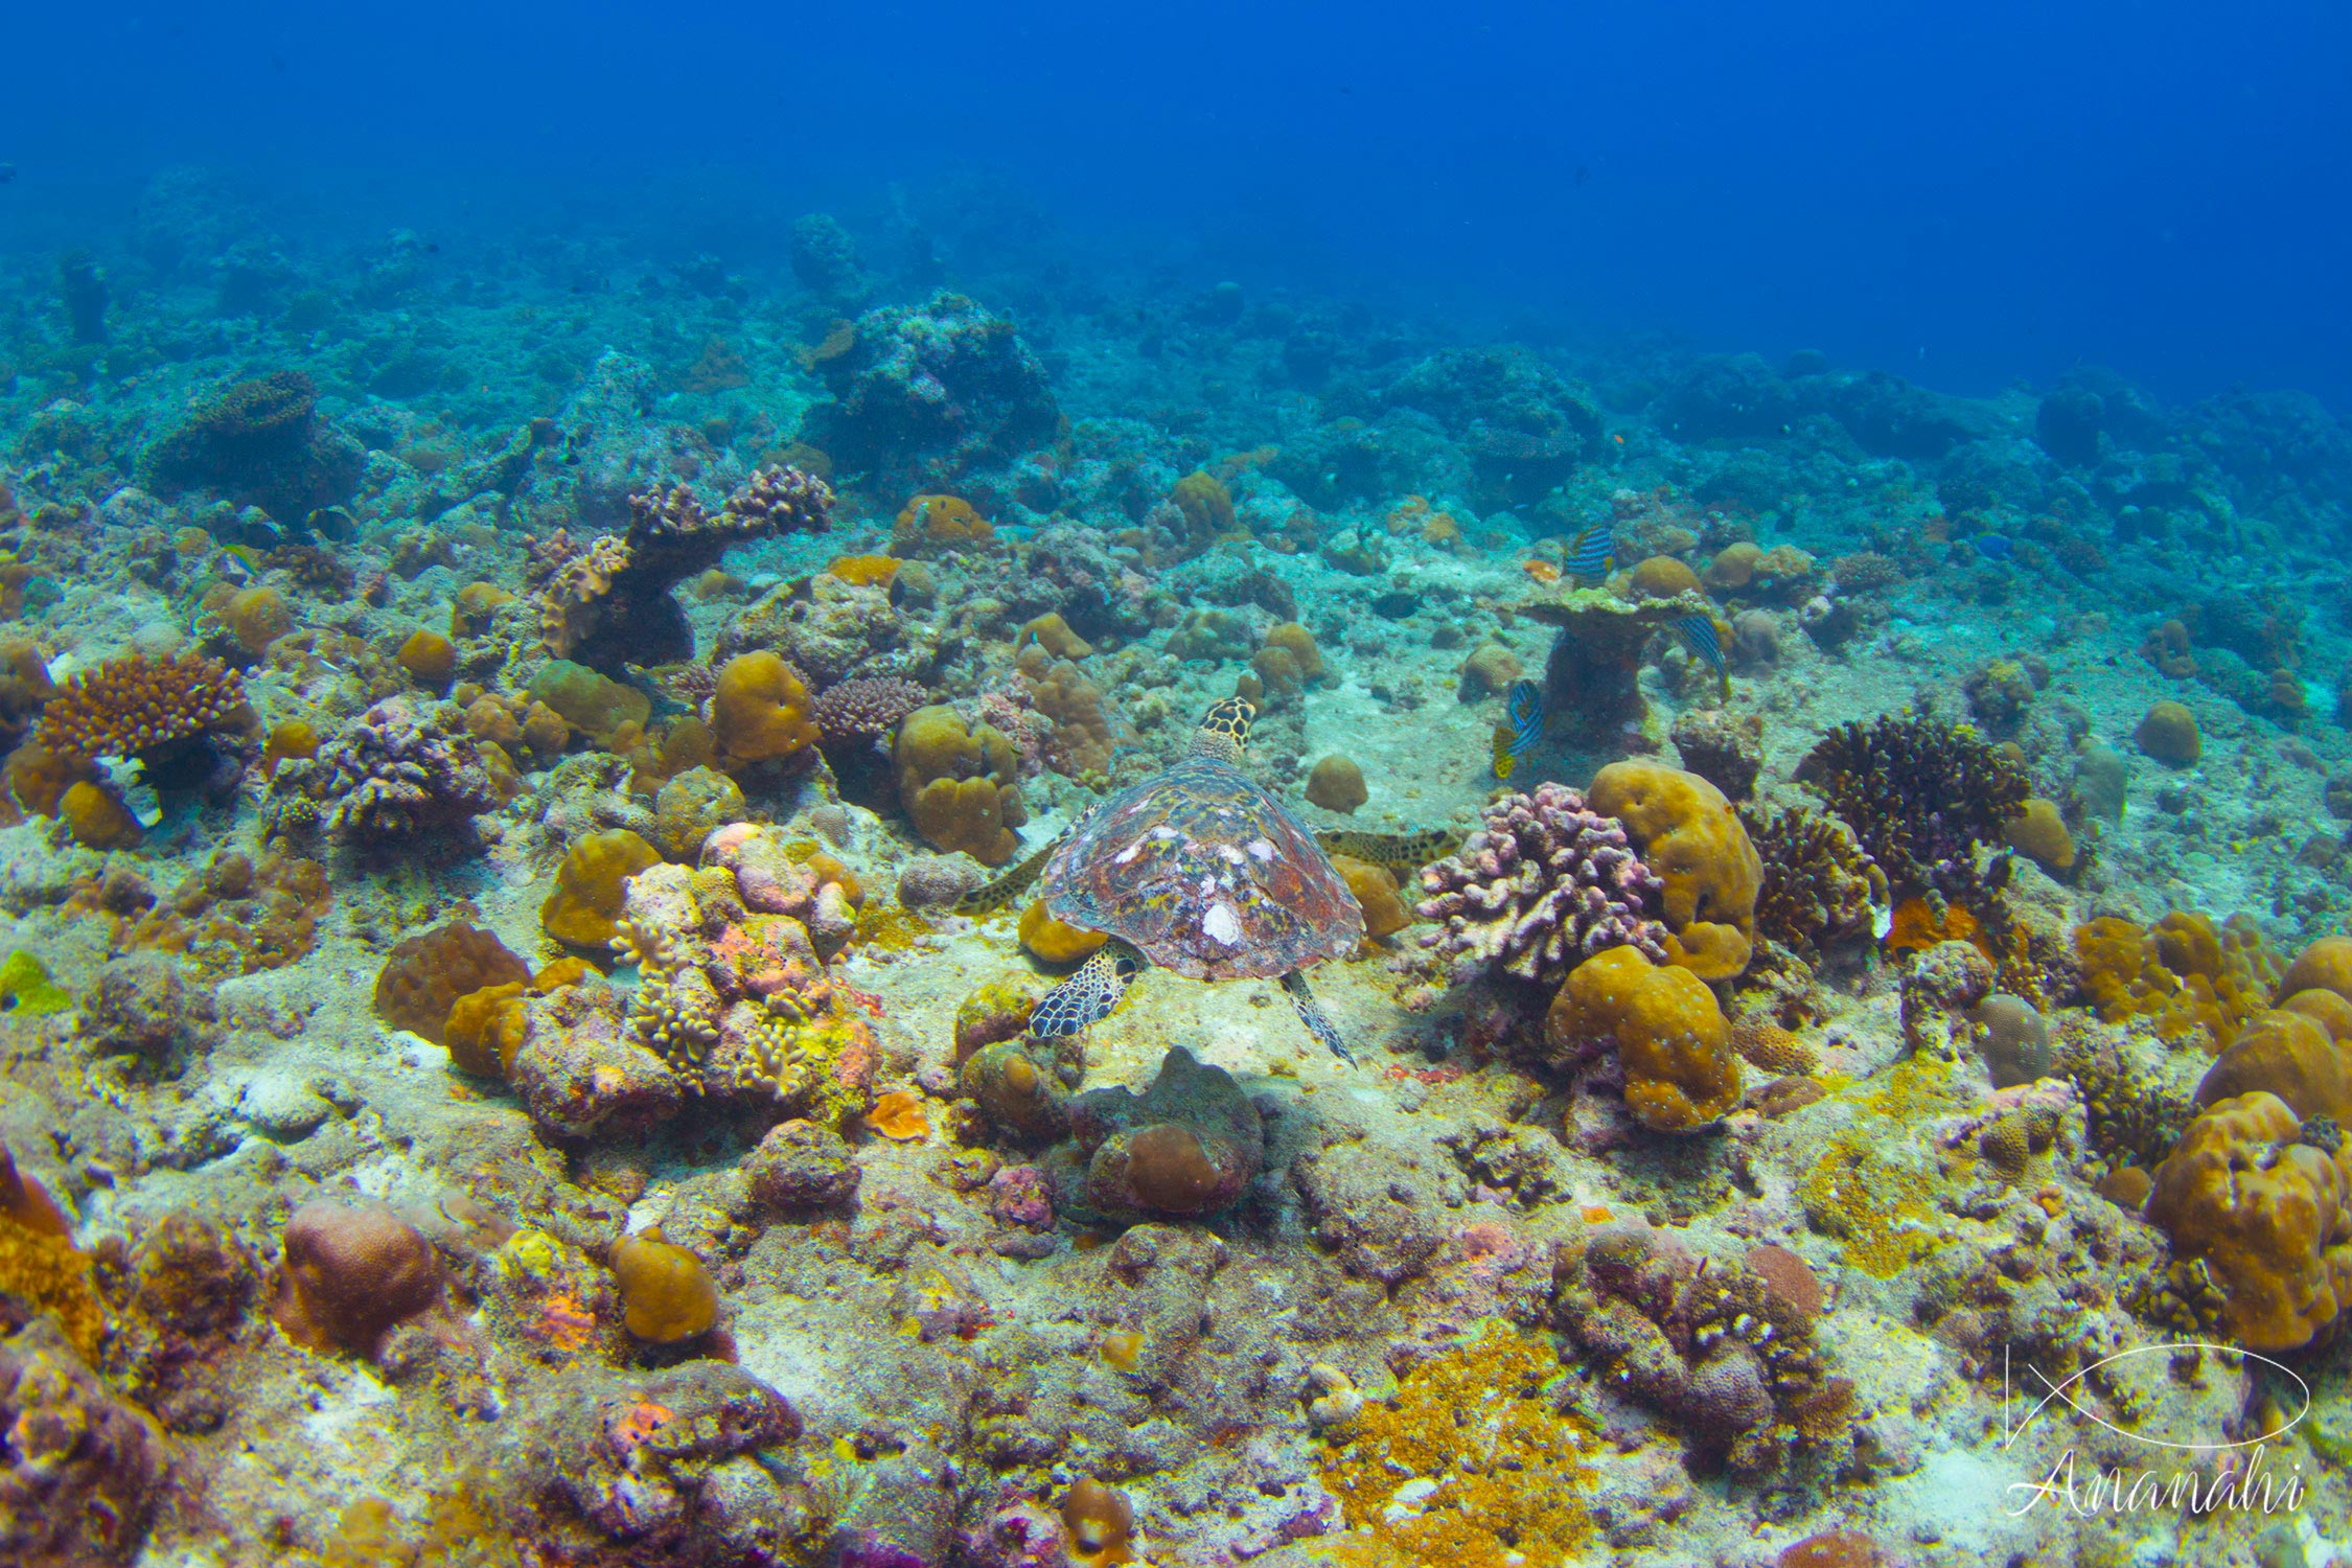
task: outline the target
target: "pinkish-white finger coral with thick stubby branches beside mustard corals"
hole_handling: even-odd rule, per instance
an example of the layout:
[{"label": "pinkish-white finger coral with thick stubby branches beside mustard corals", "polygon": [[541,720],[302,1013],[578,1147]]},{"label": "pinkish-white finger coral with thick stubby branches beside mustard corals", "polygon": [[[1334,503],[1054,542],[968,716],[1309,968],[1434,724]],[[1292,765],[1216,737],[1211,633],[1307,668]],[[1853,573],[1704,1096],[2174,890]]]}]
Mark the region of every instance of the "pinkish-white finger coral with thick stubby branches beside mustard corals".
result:
[{"label": "pinkish-white finger coral with thick stubby branches beside mustard corals", "polygon": [[1557,985],[1602,947],[1639,947],[1665,961],[1658,877],[1635,856],[1625,823],[1585,806],[1557,783],[1486,806],[1486,823],[1458,853],[1421,872],[1421,938],[1454,964],[1456,980],[1496,969]]}]

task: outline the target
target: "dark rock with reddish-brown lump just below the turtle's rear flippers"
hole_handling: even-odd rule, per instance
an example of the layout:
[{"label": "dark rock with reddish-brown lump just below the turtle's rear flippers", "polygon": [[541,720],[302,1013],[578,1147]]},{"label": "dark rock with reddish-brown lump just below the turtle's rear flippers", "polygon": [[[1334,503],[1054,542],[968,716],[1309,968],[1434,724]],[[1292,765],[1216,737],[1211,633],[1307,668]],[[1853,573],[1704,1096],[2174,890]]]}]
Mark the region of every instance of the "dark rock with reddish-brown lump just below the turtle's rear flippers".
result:
[{"label": "dark rock with reddish-brown lump just below the turtle's rear flippers", "polygon": [[1258,1107],[1230,1072],[1204,1067],[1183,1046],[1162,1058],[1141,1095],[1127,1088],[1077,1095],[1070,1131],[1091,1157],[1087,1199],[1110,1215],[1216,1213],[1265,1164]]}]

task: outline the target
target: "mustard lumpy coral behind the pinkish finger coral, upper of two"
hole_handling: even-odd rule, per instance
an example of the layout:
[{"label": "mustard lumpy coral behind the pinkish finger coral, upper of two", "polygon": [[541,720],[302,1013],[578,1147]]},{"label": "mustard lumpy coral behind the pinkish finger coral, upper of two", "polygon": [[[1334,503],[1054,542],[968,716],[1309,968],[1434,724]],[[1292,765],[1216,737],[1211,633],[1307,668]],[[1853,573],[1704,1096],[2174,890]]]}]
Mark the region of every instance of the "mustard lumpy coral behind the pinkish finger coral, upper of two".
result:
[{"label": "mustard lumpy coral behind the pinkish finger coral, upper of two", "polygon": [[1682,769],[1611,762],[1592,776],[1590,799],[1625,823],[1665,884],[1668,959],[1700,980],[1748,969],[1764,860],[1724,792]]}]

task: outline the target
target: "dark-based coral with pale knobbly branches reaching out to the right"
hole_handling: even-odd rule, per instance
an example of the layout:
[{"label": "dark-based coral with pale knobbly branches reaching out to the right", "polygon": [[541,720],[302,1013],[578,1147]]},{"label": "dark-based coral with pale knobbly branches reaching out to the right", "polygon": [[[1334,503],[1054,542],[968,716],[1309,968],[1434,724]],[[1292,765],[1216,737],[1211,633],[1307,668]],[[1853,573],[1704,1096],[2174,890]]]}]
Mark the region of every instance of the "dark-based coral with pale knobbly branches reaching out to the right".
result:
[{"label": "dark-based coral with pale knobbly branches reaching out to the right", "polygon": [[[684,484],[628,498],[628,531],[576,548],[546,581],[539,625],[548,651],[586,665],[654,665],[694,654],[670,588],[715,567],[734,545],[833,527],[833,487],[769,465],[710,512]],[[564,541],[564,548],[572,548]]]}]

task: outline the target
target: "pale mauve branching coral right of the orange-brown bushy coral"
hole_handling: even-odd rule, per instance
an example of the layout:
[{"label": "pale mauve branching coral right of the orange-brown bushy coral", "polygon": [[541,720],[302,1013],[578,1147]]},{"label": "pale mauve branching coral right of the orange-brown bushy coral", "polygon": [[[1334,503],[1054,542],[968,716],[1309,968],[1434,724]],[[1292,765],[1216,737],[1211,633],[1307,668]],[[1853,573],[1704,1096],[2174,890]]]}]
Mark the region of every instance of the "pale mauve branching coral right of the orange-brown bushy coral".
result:
[{"label": "pale mauve branching coral right of the orange-brown bushy coral", "polygon": [[381,851],[423,837],[468,842],[473,818],[492,811],[501,790],[456,708],[419,712],[390,698],[336,731],[318,757],[282,762],[273,795],[327,809],[348,844]]}]

